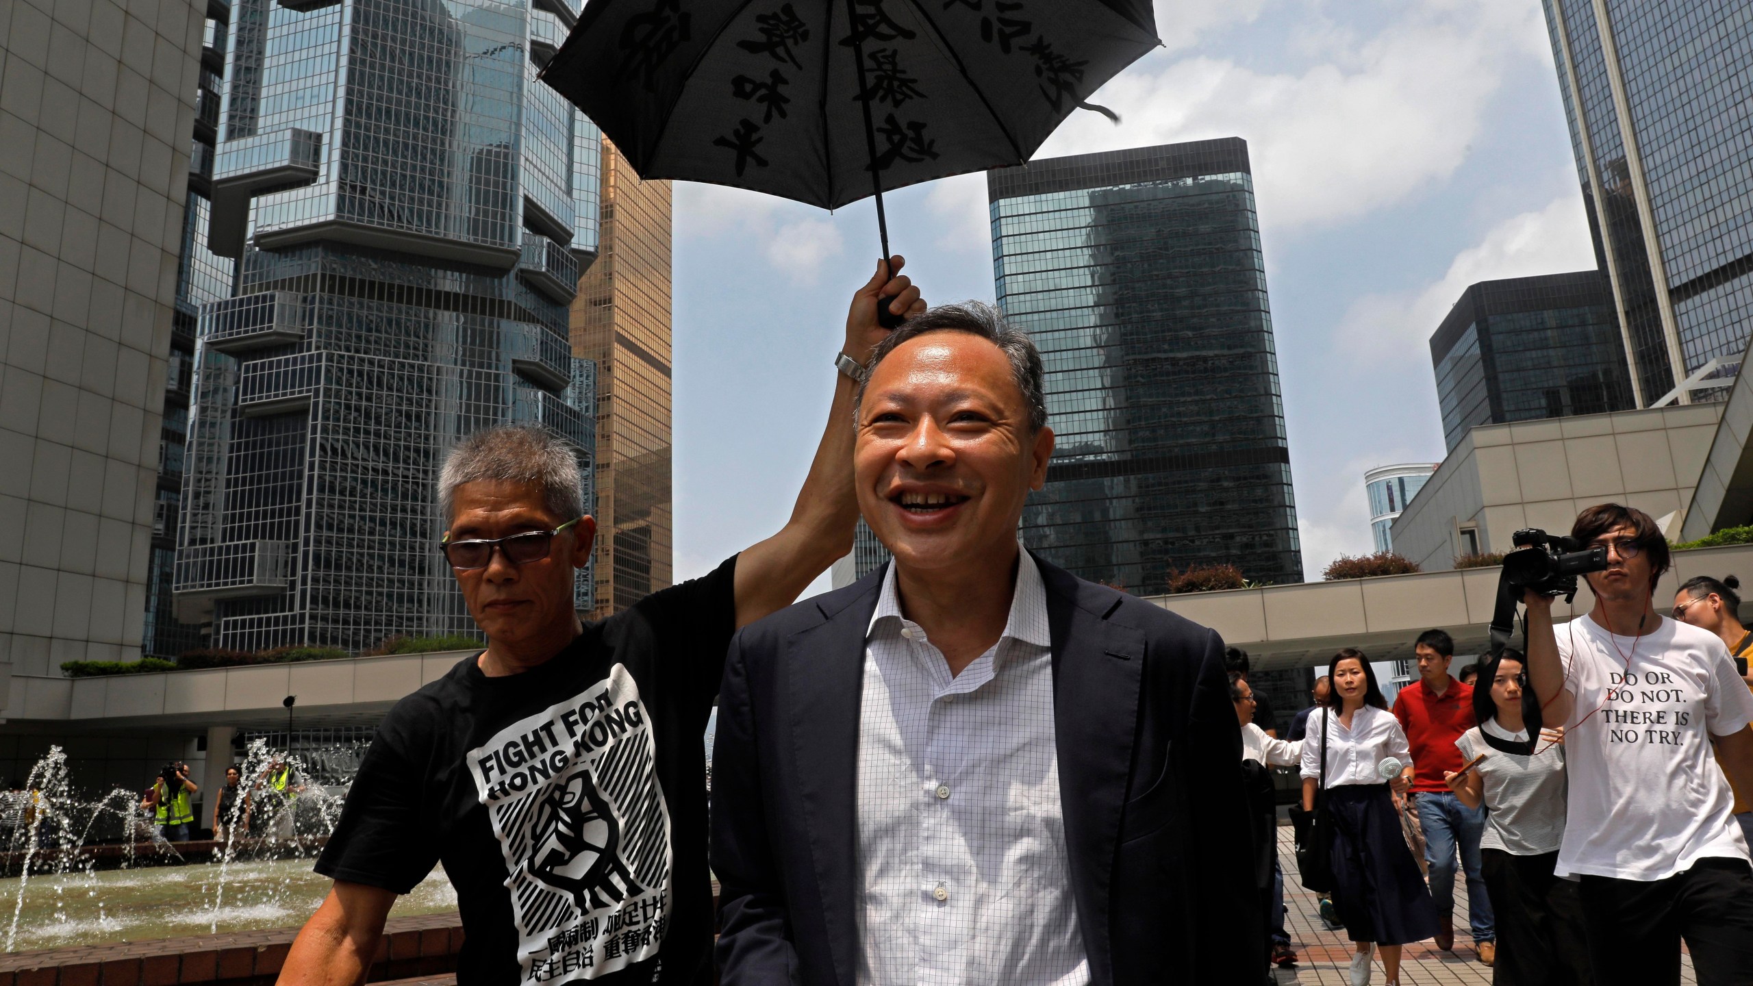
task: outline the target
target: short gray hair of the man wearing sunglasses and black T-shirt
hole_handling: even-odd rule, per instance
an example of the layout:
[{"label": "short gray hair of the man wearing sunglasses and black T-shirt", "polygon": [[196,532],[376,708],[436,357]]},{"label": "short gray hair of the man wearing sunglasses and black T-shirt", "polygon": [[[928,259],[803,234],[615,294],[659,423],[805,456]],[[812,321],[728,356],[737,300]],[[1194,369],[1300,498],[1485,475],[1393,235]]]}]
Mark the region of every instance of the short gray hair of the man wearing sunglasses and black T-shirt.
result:
[{"label": "short gray hair of the man wearing sunglasses and black T-shirt", "polygon": [[438,474],[438,512],[456,519],[456,489],[465,482],[522,482],[542,489],[542,505],[561,521],[584,516],[578,460],[559,435],[529,425],[500,425],[465,437]]}]

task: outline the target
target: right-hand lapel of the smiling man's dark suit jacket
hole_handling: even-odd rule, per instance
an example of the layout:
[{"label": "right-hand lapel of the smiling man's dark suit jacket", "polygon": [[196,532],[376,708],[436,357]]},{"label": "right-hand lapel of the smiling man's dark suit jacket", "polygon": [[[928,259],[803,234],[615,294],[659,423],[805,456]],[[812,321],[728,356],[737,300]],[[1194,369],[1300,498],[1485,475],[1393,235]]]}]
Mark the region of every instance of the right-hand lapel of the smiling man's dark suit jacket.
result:
[{"label": "right-hand lapel of the smiling man's dark suit jacket", "polygon": [[1113,975],[1108,891],[1132,768],[1145,635],[1108,623],[1118,600],[1036,560],[1054,640],[1054,733],[1059,800],[1078,928],[1097,981]]}]

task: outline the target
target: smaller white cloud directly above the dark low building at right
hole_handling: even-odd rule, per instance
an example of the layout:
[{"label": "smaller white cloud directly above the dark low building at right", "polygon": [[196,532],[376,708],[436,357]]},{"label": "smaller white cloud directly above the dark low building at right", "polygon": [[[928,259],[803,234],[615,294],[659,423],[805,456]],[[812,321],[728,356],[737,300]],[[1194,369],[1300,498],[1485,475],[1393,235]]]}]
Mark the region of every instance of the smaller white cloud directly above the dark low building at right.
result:
[{"label": "smaller white cloud directly above the dark low building at right", "polygon": [[1469,284],[1595,267],[1581,195],[1504,219],[1460,251],[1443,277],[1401,293],[1364,295],[1339,319],[1334,347],[1362,365],[1429,372],[1427,340]]}]

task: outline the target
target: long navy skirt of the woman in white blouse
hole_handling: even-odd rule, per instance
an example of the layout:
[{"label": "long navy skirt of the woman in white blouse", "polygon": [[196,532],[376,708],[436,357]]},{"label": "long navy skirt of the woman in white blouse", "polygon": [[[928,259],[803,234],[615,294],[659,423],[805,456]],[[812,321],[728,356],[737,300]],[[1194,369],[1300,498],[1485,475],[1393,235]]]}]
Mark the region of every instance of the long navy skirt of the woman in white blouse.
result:
[{"label": "long navy skirt of the woman in white blouse", "polygon": [[1332,905],[1353,942],[1404,946],[1434,939],[1436,905],[1406,847],[1387,784],[1325,791],[1332,814]]}]

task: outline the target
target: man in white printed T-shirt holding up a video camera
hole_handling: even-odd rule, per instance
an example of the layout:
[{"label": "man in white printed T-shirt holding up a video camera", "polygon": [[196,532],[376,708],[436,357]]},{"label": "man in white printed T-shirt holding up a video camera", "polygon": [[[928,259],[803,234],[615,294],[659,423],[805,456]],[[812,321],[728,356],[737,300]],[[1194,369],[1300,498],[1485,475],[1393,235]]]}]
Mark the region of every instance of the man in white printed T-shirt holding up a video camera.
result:
[{"label": "man in white printed T-shirt holding up a video camera", "polygon": [[1571,537],[1608,551],[1595,607],[1555,633],[1551,598],[1523,602],[1529,679],[1567,726],[1557,874],[1581,879],[1595,975],[1678,984],[1685,940],[1700,986],[1753,984],[1753,868],[1723,777],[1753,786],[1753,693],[1716,635],[1655,611],[1669,556],[1650,514],[1590,507]]}]

